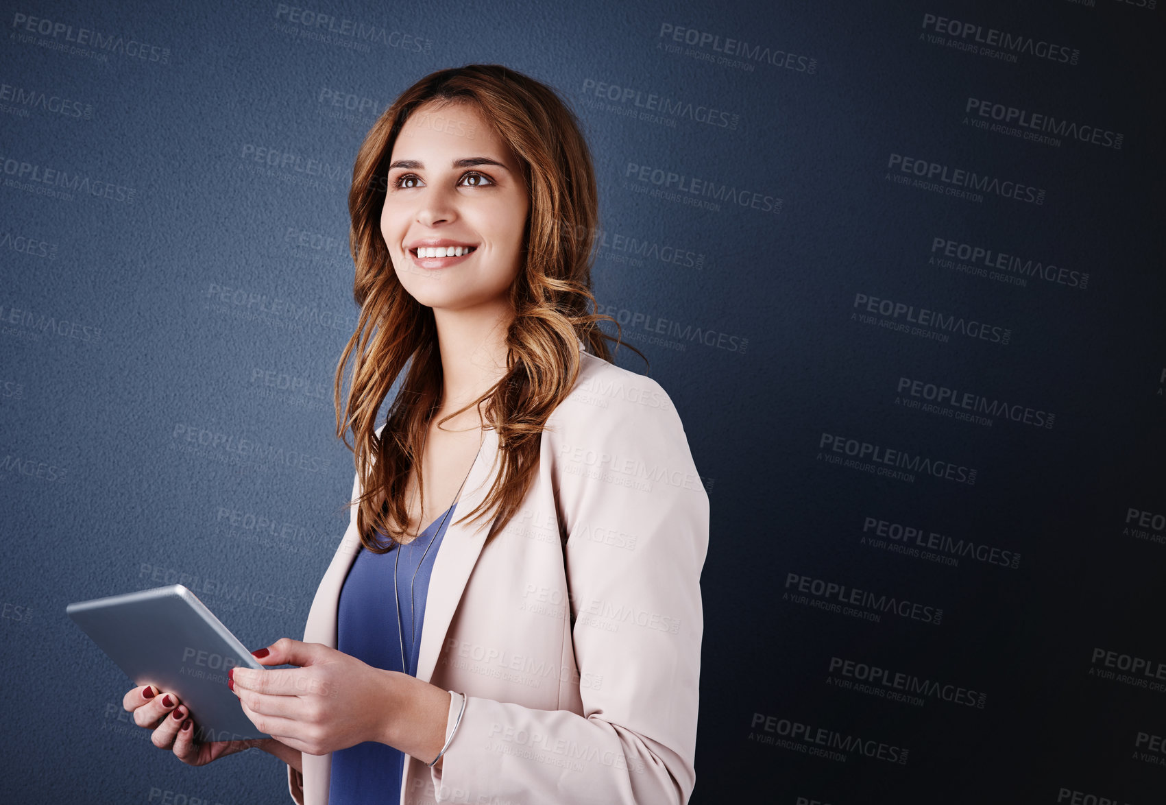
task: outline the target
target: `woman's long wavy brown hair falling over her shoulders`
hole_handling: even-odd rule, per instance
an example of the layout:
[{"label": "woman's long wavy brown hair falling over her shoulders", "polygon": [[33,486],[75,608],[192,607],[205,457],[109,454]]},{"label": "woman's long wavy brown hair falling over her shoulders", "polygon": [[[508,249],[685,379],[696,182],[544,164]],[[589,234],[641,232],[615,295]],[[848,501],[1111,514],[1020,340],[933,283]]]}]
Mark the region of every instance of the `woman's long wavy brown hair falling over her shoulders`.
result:
[{"label": "woman's long wavy brown hair falling over her shoulders", "polygon": [[[402,92],[370,130],[352,170],[349,245],[360,317],[340,356],[335,387],[336,434],[352,450],[364,483],[354,503],[357,528],[361,544],[374,553],[416,536],[409,533],[405,491],[417,468],[419,498],[424,501],[420,457],[442,396],[433,309],[401,286],[380,231],[393,145],[409,116],[430,102],[472,104],[518,156],[531,202],[525,260],[510,289],[514,318],[506,332],[507,371],[477,400],[438,421],[440,427],[485,402],[483,419],[498,434],[494,482],[459,522],[493,512],[497,530],[491,536],[510,522],[538,470],[547,418],[575,385],[578,341],[609,362],[606,342],[614,342],[616,349],[621,343],[597,326],[614,318],[589,313],[595,306],[591,262],[598,220],[595,169],[578,120],[555,90],[499,64],[469,64],[433,72]],[[350,360],[349,396],[342,406]],[[377,414],[402,373],[378,436]],[[420,522],[426,522],[423,503]]]}]

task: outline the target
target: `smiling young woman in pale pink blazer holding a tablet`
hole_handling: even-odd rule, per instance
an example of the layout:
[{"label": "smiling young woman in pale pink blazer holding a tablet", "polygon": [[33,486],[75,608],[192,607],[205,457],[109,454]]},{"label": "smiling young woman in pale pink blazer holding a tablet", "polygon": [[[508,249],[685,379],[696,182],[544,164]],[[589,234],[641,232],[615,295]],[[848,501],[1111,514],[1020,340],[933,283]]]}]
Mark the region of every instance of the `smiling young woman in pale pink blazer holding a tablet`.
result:
[{"label": "smiling young woman in pale pink blazer holding a tablet", "polygon": [[192,765],[282,758],[303,805],[686,803],[709,504],[667,393],[588,313],[577,120],[504,66],[435,72],[368,133],[349,209],[356,505],[303,640],[255,652],[297,667],[233,672],[273,737],[199,744],[152,688],[125,707]]}]

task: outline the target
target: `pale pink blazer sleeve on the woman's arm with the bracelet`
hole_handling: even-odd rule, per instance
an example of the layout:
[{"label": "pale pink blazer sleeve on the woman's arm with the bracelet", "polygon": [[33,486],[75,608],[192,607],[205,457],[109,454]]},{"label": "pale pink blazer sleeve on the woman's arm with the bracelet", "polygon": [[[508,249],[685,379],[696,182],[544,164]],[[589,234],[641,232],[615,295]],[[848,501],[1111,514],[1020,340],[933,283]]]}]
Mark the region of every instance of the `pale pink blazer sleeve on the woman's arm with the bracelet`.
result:
[{"label": "pale pink blazer sleeve on the woman's arm with the bracelet", "polygon": [[[437,802],[684,805],[691,796],[709,499],[668,396],[649,378],[634,383],[635,401],[564,400],[541,455],[554,464],[568,536],[583,715],[468,696],[443,768],[430,769]],[[612,532],[632,547],[596,538]]]}]

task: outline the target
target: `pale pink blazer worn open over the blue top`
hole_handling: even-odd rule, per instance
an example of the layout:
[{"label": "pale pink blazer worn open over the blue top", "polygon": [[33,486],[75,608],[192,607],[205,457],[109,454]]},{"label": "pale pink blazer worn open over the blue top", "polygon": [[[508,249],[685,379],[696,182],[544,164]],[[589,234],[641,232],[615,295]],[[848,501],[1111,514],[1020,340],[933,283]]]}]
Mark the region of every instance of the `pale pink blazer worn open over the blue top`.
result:
[{"label": "pale pink blazer worn open over the blue top", "polygon": [[[433,567],[417,663],[417,679],[454,694],[447,738],[463,694],[465,712],[441,771],[406,755],[401,805],[683,805],[693,792],[709,499],[660,385],[580,357],[522,509],[486,548],[486,526],[457,518],[497,473],[493,430],[470,470]],[[351,511],[305,642],[336,646],[360,547]],[[295,802],[324,805],[330,769],[331,754],[304,755],[302,776],[289,766]]]}]

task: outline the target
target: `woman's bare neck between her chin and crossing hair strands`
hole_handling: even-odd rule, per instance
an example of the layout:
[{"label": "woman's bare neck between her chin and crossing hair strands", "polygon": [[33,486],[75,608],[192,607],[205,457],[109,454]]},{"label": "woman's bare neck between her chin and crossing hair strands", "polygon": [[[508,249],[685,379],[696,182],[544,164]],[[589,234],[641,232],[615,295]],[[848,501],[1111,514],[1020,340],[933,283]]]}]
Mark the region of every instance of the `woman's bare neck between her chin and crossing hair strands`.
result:
[{"label": "woman's bare neck between her chin and crossing hair strands", "polygon": [[[473,401],[506,373],[506,329],[513,318],[506,301],[465,310],[434,309],[442,366],[440,416]],[[478,424],[478,414],[471,408],[444,427]]]}]

